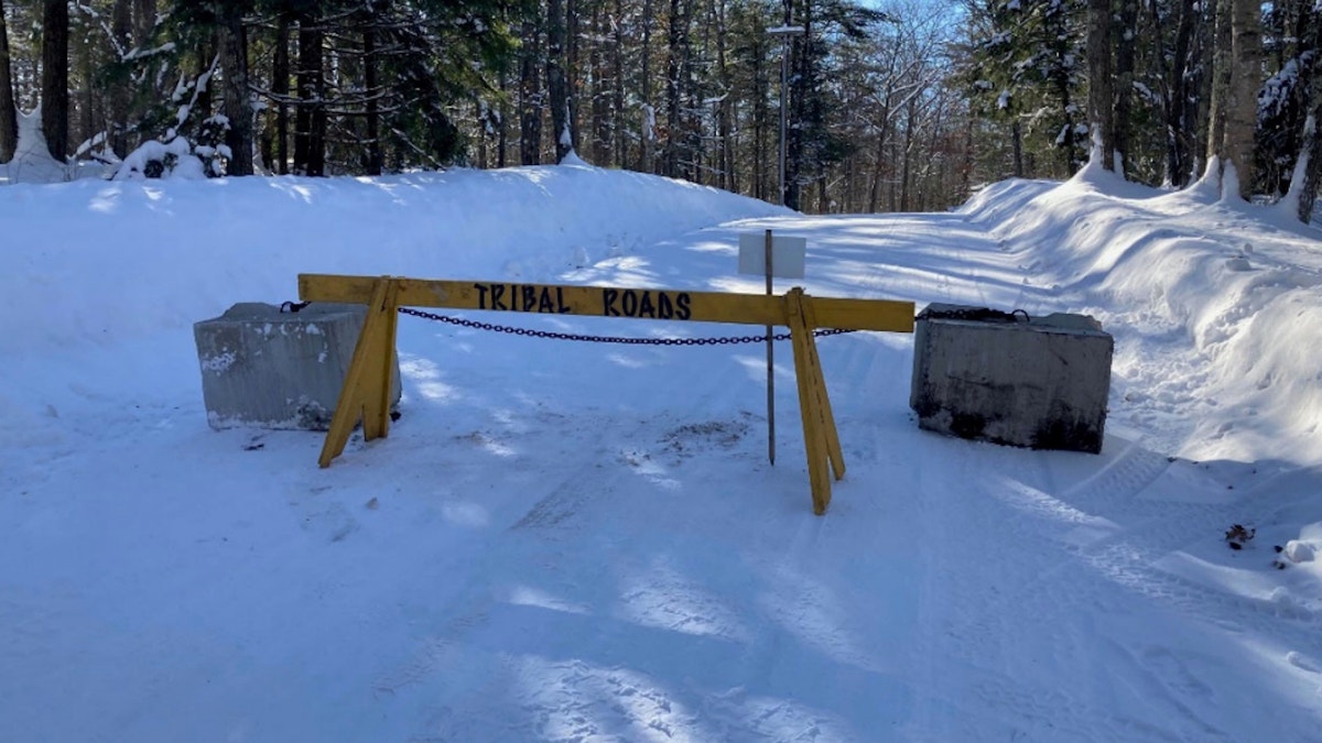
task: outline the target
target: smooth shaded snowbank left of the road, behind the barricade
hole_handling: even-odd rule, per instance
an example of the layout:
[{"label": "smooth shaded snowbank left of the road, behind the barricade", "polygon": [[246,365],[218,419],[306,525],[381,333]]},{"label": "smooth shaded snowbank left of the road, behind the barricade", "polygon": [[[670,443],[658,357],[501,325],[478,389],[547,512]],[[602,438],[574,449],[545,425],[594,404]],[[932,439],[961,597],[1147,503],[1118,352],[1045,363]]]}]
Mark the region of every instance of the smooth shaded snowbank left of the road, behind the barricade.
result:
[{"label": "smooth shaded snowbank left of the road, behind the barricade", "polygon": [[279,304],[296,299],[300,272],[535,282],[699,226],[783,213],[591,167],[17,184],[0,192],[0,353],[114,342],[235,301]]}]

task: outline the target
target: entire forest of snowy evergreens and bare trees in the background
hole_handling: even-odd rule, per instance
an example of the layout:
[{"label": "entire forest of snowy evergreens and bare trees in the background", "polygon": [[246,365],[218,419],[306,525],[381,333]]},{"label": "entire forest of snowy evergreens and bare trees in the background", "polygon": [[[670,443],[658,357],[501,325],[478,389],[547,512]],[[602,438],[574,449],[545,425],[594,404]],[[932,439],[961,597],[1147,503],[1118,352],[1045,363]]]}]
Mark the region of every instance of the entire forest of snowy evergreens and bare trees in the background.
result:
[{"label": "entire forest of snowy evergreens and bare trees in the background", "polygon": [[[787,28],[801,33],[777,34]],[[123,176],[555,163],[813,213],[1068,177],[1311,214],[1322,0],[0,0],[0,164]],[[788,85],[781,85],[781,65]]]}]

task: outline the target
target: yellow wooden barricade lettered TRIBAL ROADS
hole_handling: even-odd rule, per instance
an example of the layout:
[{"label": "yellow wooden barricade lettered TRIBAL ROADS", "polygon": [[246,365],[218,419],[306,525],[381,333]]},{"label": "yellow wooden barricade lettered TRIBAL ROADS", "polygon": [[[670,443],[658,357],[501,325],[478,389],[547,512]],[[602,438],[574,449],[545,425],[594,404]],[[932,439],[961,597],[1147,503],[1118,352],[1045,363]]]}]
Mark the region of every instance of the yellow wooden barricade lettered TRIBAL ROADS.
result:
[{"label": "yellow wooden barricade lettered TRIBAL ROADS", "polygon": [[836,416],[826,393],[813,331],[841,328],[914,332],[911,301],[813,297],[798,287],[781,296],[765,296],[657,288],[300,274],[299,299],[368,305],[368,319],[358,334],[344,389],[340,391],[340,401],[330,419],[330,431],[321,447],[319,459],[321,467],[329,467],[330,460],[344,452],[349,434],[360,420],[365,440],[385,438],[390,431],[390,374],[399,307],[787,325],[795,350],[795,377],[798,382],[798,410],[804,423],[813,512],[818,516],[826,513],[830,505],[830,475],[834,475],[836,480],[845,476],[845,456],[841,452],[839,434],[836,430]]}]

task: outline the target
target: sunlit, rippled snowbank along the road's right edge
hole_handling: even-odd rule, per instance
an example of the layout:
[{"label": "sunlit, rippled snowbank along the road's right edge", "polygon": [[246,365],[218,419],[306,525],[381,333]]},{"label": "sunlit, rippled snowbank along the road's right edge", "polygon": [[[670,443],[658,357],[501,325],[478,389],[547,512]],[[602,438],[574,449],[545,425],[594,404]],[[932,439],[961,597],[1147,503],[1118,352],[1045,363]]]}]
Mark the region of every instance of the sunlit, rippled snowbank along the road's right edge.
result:
[{"label": "sunlit, rippled snowbank along the road's right edge", "polygon": [[1182,431],[1187,456],[1322,461],[1317,229],[1207,182],[1162,192],[1101,169],[995,184],[964,213],[1044,301],[1091,308],[1116,336],[1113,416]]}]

